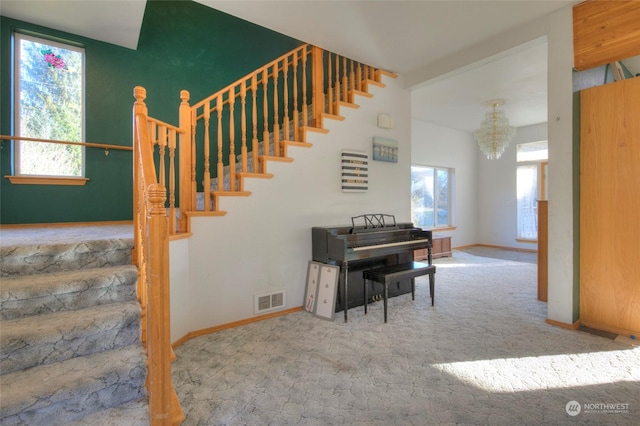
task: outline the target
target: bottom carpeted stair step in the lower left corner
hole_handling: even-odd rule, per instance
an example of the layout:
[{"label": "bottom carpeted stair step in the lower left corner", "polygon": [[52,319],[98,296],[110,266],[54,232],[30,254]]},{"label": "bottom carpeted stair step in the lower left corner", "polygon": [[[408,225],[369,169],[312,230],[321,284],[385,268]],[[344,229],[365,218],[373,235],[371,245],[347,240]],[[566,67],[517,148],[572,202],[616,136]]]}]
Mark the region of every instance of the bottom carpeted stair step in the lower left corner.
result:
[{"label": "bottom carpeted stair step in the lower left corner", "polygon": [[0,424],[66,425],[101,410],[144,402],[145,374],[139,343],[4,374]]}]

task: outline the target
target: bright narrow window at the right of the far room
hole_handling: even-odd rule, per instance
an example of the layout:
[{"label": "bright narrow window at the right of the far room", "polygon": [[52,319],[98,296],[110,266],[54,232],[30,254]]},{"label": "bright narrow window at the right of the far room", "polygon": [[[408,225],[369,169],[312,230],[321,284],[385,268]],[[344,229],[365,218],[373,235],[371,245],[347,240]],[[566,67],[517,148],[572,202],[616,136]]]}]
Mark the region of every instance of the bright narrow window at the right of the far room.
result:
[{"label": "bright narrow window at the right of the far room", "polygon": [[547,141],[518,144],[516,147],[517,238],[538,239],[538,199],[544,198],[540,182],[549,156]]}]

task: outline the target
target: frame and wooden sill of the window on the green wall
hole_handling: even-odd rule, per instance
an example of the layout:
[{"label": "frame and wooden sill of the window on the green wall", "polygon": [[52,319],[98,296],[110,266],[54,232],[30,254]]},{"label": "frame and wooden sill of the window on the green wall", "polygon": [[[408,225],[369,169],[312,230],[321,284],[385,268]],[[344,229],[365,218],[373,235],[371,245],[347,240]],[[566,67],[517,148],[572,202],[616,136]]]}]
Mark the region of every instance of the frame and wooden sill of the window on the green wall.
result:
[{"label": "frame and wooden sill of the window on the green wall", "polygon": [[[12,134],[18,137],[25,137],[20,134],[20,72],[21,72],[21,41],[26,40],[33,43],[45,44],[47,46],[58,47],[65,50],[78,52],[81,54],[81,69],[80,69],[80,142],[84,143],[86,140],[86,51],[84,46],[67,40],[56,39],[54,37],[48,37],[41,33],[34,33],[31,31],[15,30],[12,34],[12,68],[11,68],[11,106],[12,106]],[[39,138],[43,139],[43,138]],[[43,139],[49,140],[49,139]],[[27,141],[28,142],[28,141]],[[72,141],[68,141],[72,142]],[[35,143],[47,143],[47,142],[35,142]],[[79,176],[65,176],[54,174],[24,174],[21,171],[21,159],[20,159],[20,144],[21,140],[14,140],[12,146],[13,161],[11,164],[12,176],[7,176],[13,184],[36,184],[36,185],[84,185],[88,179],[86,178],[86,147],[80,146],[81,154],[81,173]]]}]

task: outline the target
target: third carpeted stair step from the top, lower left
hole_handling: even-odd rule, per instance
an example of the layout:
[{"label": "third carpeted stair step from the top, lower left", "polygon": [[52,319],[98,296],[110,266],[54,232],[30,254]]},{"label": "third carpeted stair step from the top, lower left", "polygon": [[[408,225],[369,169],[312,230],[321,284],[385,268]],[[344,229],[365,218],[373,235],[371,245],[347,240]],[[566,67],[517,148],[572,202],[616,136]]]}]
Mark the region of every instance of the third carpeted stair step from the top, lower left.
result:
[{"label": "third carpeted stair step from the top, lower left", "polygon": [[132,300],[6,320],[1,326],[4,375],[132,344],[139,340],[140,307]]}]

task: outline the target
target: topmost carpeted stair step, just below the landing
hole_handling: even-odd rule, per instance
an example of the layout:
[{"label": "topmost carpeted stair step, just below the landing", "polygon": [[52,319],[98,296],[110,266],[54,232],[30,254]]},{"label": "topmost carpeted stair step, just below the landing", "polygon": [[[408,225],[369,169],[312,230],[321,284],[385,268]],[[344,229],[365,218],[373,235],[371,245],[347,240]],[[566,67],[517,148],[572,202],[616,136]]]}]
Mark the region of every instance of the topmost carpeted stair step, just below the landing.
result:
[{"label": "topmost carpeted stair step, just below the landing", "polygon": [[0,277],[130,265],[132,238],[0,248]]}]

